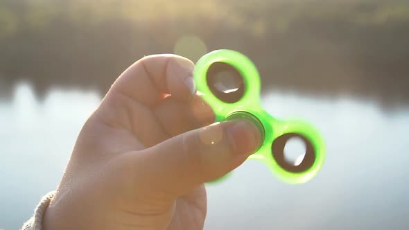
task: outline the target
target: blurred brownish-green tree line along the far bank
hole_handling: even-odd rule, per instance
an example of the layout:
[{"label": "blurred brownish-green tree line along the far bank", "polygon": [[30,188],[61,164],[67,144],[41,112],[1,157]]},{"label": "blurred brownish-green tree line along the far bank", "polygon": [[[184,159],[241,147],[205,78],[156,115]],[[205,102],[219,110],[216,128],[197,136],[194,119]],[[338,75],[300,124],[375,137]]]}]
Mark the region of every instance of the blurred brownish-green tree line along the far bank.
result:
[{"label": "blurred brownish-green tree line along the far bank", "polygon": [[0,83],[104,94],[132,62],[174,53],[184,35],[248,55],[264,91],[409,98],[407,0],[1,0]]}]

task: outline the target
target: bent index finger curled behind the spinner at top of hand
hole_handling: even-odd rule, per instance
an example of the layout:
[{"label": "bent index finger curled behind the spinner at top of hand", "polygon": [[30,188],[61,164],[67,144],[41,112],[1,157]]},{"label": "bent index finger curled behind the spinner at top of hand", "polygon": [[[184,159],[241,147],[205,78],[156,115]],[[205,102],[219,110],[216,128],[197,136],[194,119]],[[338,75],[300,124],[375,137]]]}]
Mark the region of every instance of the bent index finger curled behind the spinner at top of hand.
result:
[{"label": "bent index finger curled behind the spinner at top of hand", "polygon": [[167,94],[187,101],[195,94],[193,69],[193,62],[179,55],[149,55],[128,67],[108,94],[123,94],[148,106]]}]

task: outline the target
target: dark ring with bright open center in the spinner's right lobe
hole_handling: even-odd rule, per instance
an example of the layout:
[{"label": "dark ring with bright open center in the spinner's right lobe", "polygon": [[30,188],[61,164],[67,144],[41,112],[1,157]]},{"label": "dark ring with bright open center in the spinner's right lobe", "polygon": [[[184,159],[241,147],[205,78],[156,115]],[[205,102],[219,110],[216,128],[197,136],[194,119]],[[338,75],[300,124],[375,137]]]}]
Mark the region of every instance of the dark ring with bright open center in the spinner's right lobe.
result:
[{"label": "dark ring with bright open center in the spinner's right lobe", "polygon": [[304,172],[313,166],[316,154],[311,141],[300,134],[289,133],[272,143],[272,157],[288,172]]}]

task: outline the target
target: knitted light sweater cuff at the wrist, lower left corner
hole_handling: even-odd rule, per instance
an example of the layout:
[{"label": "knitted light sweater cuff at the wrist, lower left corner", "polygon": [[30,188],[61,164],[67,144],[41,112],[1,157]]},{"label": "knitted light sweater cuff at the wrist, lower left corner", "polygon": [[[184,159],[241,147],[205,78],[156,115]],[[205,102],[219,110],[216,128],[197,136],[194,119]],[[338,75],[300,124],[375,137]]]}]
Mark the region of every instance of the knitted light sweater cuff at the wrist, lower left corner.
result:
[{"label": "knitted light sweater cuff at the wrist, lower left corner", "polygon": [[42,218],[54,195],[55,191],[52,191],[42,197],[40,204],[35,208],[34,216],[23,224],[21,230],[42,230]]}]

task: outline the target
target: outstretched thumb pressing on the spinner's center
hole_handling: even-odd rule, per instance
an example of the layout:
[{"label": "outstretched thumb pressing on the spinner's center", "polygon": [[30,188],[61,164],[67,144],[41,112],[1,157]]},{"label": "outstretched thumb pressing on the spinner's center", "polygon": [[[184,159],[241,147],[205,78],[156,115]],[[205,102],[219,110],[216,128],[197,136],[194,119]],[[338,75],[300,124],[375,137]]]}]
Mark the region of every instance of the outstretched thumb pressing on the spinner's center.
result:
[{"label": "outstretched thumb pressing on the spinner's center", "polygon": [[251,121],[214,123],[144,150],[138,168],[150,186],[179,196],[237,168],[260,143]]}]

